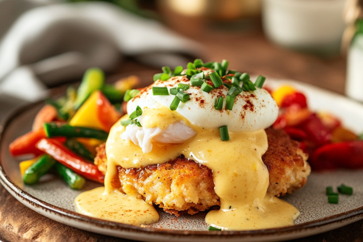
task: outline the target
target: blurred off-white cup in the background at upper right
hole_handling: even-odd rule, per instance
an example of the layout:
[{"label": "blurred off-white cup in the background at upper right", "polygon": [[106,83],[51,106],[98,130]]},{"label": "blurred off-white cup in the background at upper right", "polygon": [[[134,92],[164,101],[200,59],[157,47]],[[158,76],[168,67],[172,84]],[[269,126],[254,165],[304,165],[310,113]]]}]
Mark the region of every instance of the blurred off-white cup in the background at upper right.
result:
[{"label": "blurred off-white cup in the background at upper right", "polygon": [[262,0],[266,36],[276,44],[323,55],[338,54],[345,0]]}]

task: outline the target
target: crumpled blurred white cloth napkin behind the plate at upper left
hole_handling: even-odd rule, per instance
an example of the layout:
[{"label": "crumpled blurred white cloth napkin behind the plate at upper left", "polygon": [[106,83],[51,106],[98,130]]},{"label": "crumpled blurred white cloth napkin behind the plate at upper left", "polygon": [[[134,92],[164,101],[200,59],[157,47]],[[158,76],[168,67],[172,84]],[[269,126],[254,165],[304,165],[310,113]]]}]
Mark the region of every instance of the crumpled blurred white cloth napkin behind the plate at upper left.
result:
[{"label": "crumpled blurred white cloth napkin behind the plate at upper left", "polygon": [[157,21],[97,1],[0,0],[0,40],[0,115],[4,98],[35,101],[46,85],[81,78],[89,67],[110,71],[123,56],[173,67],[201,49]]}]

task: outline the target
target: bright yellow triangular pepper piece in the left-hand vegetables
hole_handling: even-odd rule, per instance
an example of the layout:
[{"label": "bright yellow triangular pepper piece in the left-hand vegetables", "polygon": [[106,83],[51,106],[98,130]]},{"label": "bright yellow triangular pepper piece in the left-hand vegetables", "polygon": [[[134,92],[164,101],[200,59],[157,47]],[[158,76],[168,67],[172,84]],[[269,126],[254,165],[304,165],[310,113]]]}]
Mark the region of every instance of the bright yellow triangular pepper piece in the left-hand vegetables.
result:
[{"label": "bright yellow triangular pepper piece in the left-hand vegetables", "polygon": [[97,128],[103,130],[103,126],[97,117],[97,100],[99,91],[94,91],[89,98],[78,109],[73,118],[69,121],[72,126]]}]

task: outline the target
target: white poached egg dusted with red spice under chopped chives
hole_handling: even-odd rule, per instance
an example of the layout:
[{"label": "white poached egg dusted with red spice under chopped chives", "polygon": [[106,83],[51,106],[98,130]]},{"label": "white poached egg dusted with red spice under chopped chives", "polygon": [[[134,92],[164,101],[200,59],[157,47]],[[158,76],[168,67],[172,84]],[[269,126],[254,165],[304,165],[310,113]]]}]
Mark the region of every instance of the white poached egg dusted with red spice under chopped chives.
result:
[{"label": "white poached egg dusted with red spice under chopped chives", "polygon": [[[189,84],[185,76],[170,78],[167,81],[158,80],[152,84],[157,87],[177,87],[178,83]],[[278,107],[274,99],[264,89],[243,91],[236,96],[232,110],[225,109],[225,98],[222,110],[214,108],[215,98],[226,97],[228,88],[221,86],[206,93],[200,87],[190,86],[187,93],[190,100],[180,102],[176,112],[183,115],[191,124],[204,128],[219,128],[227,126],[230,132],[250,132],[267,128],[278,116]],[[153,95],[151,86],[127,103],[127,112],[136,110],[136,106],[156,108],[159,105],[170,107],[174,95]]]}]

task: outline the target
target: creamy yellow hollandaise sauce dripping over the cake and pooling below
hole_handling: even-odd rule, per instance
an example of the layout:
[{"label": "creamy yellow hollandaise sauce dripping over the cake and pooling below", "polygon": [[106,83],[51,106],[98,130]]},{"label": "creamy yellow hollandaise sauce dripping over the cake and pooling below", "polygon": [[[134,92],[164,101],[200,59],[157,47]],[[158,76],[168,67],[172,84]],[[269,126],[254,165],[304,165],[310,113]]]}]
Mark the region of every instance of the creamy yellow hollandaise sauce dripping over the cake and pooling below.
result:
[{"label": "creamy yellow hollandaise sauce dripping over the cake and pooling below", "polygon": [[[118,176],[117,166],[126,169],[140,168],[184,155],[212,170],[215,192],[220,197],[221,207],[207,214],[205,221],[209,225],[228,230],[293,225],[299,211],[287,202],[266,194],[269,174],[261,156],[268,148],[268,140],[263,129],[253,132],[230,132],[230,139],[222,141],[218,128],[207,129],[192,125],[178,112],[171,112],[167,107],[152,110],[146,108],[143,115],[144,127],[163,128],[181,121],[192,127],[196,135],[181,144],[154,142],[151,152],[143,153],[138,145],[120,138],[125,127],[117,122],[106,142],[105,189],[98,188],[79,195],[76,198],[76,206],[80,213],[131,224],[156,221],[158,216],[152,205],[137,200],[135,194],[124,195],[115,192],[117,185],[114,185],[113,180]],[[105,203],[101,208],[102,202],[99,201],[105,200],[109,203]],[[112,215],[108,217],[108,214]],[[132,217],[132,214],[137,214],[137,218]],[[143,214],[148,216],[145,216],[145,220],[140,218]],[[118,217],[121,217],[120,220],[117,220]]]}]

